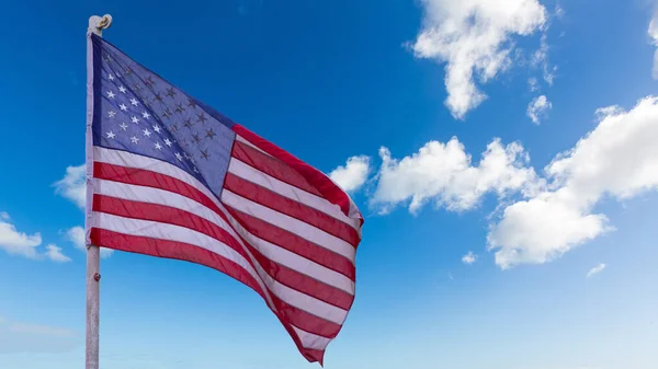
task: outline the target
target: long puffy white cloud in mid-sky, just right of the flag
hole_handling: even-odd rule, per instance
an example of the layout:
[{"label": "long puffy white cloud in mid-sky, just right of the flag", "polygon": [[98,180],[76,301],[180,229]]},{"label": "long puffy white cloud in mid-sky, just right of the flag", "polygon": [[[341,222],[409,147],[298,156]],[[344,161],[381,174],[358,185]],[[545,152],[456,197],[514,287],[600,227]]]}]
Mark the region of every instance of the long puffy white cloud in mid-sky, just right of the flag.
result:
[{"label": "long puffy white cloud in mid-sky, just right of the flag", "polygon": [[480,198],[495,192],[533,193],[540,181],[533,169],[524,168],[527,154],[518,142],[503,146],[492,140],[477,166],[456,137],[447,143],[430,141],[419,152],[401,160],[393,159],[387,148],[379,149],[382,168],[371,205],[379,212],[409,203],[409,211],[433,201],[438,207],[462,211],[474,208]]}]

